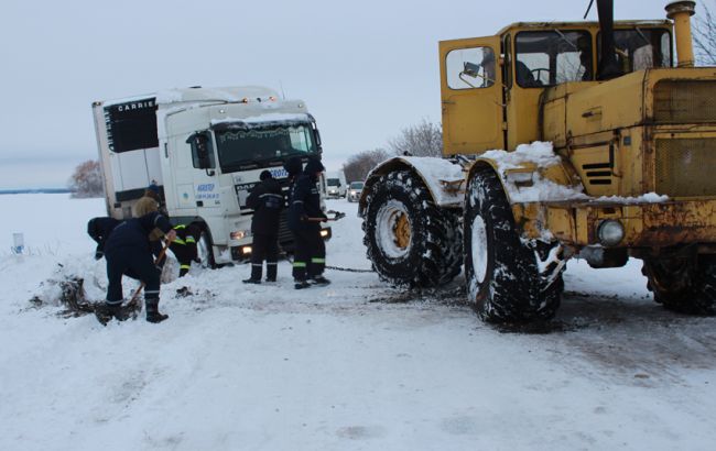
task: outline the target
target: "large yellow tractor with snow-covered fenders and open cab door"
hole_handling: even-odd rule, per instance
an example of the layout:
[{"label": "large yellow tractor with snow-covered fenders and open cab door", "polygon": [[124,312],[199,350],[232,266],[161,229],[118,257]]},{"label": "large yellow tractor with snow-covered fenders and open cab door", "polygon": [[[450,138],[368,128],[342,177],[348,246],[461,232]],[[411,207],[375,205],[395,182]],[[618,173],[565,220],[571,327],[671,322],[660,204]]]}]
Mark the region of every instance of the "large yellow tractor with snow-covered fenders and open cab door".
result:
[{"label": "large yellow tractor with snow-covered fenders and open cab door", "polygon": [[694,67],[695,2],[597,8],[440,43],[444,157],[392,158],[360,199],[382,279],[437,286],[464,264],[482,319],[523,322],[555,314],[569,257],[636,257],[658,302],[716,314],[716,68]]}]

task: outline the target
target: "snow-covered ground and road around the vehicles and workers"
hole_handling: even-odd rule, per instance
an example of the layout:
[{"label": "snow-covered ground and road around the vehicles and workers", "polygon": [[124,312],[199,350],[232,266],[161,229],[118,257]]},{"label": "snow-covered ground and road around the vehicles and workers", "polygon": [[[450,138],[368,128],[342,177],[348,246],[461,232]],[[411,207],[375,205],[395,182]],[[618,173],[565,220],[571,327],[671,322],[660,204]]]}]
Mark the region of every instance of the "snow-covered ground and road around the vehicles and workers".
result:
[{"label": "snow-covered ground and road around the vehicles and workers", "polygon": [[[328,264],[368,268],[356,204]],[[246,286],[247,265],[162,287],[161,324],[66,317],[101,299],[100,199],[0,196],[0,450],[713,450],[716,319],[653,304],[640,263],[569,262],[550,333],[480,323],[463,279],[404,294],[371,273]],[[23,232],[24,255],[10,252]],[[126,296],[134,285],[127,282]],[[188,287],[193,296],[176,290]],[[29,300],[39,296],[41,307]]]}]

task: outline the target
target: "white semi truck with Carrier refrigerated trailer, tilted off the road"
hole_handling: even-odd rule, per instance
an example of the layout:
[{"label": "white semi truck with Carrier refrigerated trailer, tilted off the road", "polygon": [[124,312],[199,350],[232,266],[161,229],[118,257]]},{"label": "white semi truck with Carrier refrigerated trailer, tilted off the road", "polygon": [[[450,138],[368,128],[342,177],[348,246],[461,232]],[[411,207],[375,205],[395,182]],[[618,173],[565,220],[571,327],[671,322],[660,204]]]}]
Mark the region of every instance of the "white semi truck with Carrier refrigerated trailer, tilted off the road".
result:
[{"label": "white semi truck with Carrier refrigerated trailer, tilted off the road", "polygon": [[[285,161],[321,157],[321,136],[301,100],[262,87],[187,88],[93,103],[108,215],[132,216],[155,183],[173,223],[197,222],[208,265],[251,255],[249,191],[262,170],[288,190]],[[318,184],[325,197],[325,184]],[[324,207],[325,208],[325,207]],[[322,230],[330,238],[330,228]],[[292,248],[281,221],[279,241]]]}]

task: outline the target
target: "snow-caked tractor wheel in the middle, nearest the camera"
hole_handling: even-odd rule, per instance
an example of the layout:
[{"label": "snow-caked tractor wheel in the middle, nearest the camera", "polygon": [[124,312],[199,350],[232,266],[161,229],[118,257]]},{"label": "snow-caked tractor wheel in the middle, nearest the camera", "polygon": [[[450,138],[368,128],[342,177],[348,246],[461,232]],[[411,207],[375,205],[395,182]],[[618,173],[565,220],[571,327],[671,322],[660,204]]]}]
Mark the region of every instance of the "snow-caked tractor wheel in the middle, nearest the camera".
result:
[{"label": "snow-caked tractor wheel in the middle, nearest the camera", "polygon": [[550,319],[564,289],[561,249],[520,239],[492,169],[475,173],[465,200],[465,279],[475,310],[489,322]]}]

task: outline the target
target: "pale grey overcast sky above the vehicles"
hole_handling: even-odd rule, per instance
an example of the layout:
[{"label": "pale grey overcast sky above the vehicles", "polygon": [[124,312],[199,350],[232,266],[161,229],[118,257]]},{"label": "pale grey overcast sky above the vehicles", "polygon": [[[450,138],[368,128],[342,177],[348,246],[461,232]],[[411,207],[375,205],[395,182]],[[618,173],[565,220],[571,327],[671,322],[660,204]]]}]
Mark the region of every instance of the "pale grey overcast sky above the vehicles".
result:
[{"label": "pale grey overcast sky above the vehicles", "polygon": [[[581,20],[587,3],[3,0],[0,189],[62,187],[96,158],[94,100],[196,85],[305,100],[338,168],[423,118],[441,120],[438,41]],[[617,19],[663,19],[668,0],[615,3]]]}]

